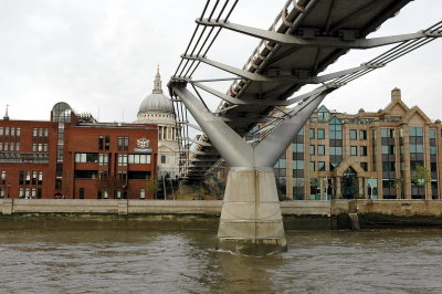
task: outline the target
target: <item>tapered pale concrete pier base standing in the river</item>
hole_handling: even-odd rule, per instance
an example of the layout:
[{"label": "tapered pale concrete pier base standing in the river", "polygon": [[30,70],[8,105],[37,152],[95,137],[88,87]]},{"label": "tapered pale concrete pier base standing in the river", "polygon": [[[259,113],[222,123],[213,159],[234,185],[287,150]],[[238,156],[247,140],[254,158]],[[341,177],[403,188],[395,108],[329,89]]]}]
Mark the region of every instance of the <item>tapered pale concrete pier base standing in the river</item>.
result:
[{"label": "tapered pale concrete pier base standing in the river", "polygon": [[217,249],[251,255],[287,250],[273,168],[232,168]]}]

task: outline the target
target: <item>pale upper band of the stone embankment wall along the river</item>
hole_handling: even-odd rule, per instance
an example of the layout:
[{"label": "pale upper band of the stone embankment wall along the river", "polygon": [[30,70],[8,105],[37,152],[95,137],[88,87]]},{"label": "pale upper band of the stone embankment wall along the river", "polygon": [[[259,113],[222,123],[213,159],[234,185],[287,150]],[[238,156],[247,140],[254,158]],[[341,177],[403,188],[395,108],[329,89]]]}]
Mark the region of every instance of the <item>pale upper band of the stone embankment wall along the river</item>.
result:
[{"label": "pale upper band of the stone embankment wall along the river", "polygon": [[[211,214],[221,213],[221,200],[70,200],[0,199],[0,212],[12,213],[106,213],[106,214]],[[283,201],[284,216],[338,216],[379,213],[398,217],[442,217],[436,200],[333,200]]]}]

